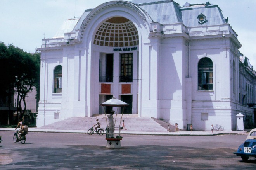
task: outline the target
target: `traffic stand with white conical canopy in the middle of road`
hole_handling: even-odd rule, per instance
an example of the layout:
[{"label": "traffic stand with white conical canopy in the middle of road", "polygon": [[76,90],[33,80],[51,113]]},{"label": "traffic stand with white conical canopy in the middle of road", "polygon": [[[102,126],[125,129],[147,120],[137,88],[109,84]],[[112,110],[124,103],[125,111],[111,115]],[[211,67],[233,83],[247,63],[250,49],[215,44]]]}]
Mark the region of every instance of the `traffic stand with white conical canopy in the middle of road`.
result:
[{"label": "traffic stand with white conical canopy in the middle of road", "polygon": [[[117,107],[116,109],[116,115],[115,115],[115,119],[114,119],[114,129],[111,129],[111,127],[109,126],[108,122],[107,122],[107,115],[106,115],[106,111],[105,111],[105,108],[104,108],[104,114],[105,114],[105,117],[106,117],[106,122],[107,122],[107,131],[106,131],[106,140],[107,140],[107,148],[121,148],[121,140],[123,139],[121,136],[120,136],[120,132],[121,132],[121,121],[122,121],[122,118],[123,118],[123,112],[124,112],[124,109],[125,109],[125,106],[128,106],[129,104],[121,101],[121,100],[118,100],[116,99],[116,97],[112,97],[112,99],[110,100],[107,100],[106,102],[102,103],[101,104],[104,108],[104,106],[110,106],[110,107]],[[121,116],[121,119],[120,119],[120,123],[119,123],[119,126],[116,127],[116,118],[117,118],[117,114],[118,114],[118,108],[121,108],[121,113],[122,113],[122,116]],[[122,107],[123,107],[123,110],[122,110]],[[118,129],[119,130],[119,133],[118,133],[118,136],[116,137],[109,137],[109,131],[114,131],[115,129]]]}]

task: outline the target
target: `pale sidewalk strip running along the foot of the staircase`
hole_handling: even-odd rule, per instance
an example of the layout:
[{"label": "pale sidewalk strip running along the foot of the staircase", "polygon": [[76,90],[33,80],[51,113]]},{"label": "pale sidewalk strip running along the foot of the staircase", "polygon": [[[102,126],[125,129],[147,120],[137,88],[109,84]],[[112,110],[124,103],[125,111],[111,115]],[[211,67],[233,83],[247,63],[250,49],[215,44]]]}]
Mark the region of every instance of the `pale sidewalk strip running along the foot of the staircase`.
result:
[{"label": "pale sidewalk strip running along the foot of the staircase", "polygon": [[[15,128],[0,128],[0,131],[15,131]],[[51,133],[87,133],[87,130],[58,130],[58,129],[38,129],[28,128],[29,132],[51,132]],[[118,134],[118,131],[115,131]],[[133,134],[133,135],[160,135],[160,136],[215,136],[223,134],[240,134],[247,135],[247,131],[179,131],[179,132],[130,132],[121,131],[121,134]]]}]

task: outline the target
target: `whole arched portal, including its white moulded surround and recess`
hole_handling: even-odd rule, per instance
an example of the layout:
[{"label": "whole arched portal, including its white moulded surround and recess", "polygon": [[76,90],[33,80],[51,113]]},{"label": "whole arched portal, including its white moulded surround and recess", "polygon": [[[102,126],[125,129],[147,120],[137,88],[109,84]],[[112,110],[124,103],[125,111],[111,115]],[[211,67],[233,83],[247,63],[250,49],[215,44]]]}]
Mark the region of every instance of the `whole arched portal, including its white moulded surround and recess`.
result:
[{"label": "whole arched portal, including its white moulded surround and recess", "polygon": [[148,39],[150,22],[144,11],[122,1],[104,3],[83,20],[78,40],[86,49],[86,115],[103,113],[99,104],[112,96],[129,104],[126,113],[138,114],[142,41]]}]

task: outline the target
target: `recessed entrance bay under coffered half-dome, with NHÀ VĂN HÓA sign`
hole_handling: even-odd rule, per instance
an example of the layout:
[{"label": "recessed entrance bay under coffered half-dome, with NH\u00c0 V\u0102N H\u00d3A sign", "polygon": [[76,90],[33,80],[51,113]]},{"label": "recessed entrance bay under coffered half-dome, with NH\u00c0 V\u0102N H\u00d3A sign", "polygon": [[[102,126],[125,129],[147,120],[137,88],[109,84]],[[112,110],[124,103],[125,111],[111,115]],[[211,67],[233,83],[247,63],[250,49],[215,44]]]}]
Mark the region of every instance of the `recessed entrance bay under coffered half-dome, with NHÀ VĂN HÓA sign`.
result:
[{"label": "recessed entrance bay under coffered half-dome, with NH\u00c0 V\u0102N H\u00d3A sign", "polygon": [[[138,95],[133,90],[138,83],[136,26],[125,17],[112,17],[99,26],[93,37],[94,51],[99,52],[99,104],[114,95],[129,104],[126,114],[137,114]],[[103,113],[100,107],[99,113]]]}]

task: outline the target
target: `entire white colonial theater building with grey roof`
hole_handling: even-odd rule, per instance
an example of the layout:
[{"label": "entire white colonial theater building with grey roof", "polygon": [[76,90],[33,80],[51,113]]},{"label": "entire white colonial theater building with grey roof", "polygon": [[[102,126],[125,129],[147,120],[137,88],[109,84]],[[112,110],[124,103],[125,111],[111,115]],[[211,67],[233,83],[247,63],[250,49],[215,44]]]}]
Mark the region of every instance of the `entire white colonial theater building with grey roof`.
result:
[{"label": "entire white colonial theater building with grey roof", "polygon": [[115,96],[129,104],[125,114],[235,130],[240,112],[254,122],[256,102],[256,74],[241,46],[210,3],[111,1],[85,10],[38,48],[36,126],[103,114],[100,104]]}]

